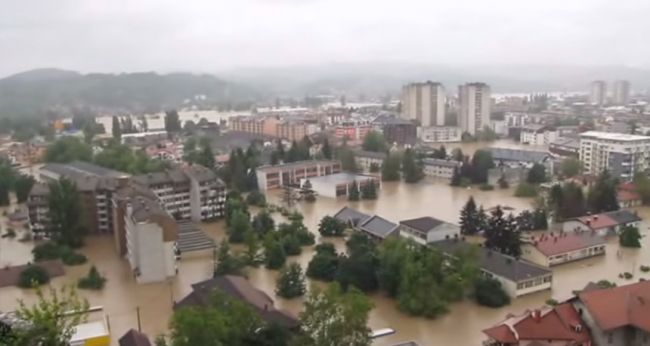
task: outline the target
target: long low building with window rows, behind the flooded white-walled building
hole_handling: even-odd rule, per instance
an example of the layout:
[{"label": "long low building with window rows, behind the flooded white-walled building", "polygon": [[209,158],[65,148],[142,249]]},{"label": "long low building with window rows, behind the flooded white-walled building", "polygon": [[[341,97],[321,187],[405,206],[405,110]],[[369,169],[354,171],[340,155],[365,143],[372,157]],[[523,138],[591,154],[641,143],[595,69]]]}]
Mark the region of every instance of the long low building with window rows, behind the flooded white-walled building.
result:
[{"label": "long low building with window rows, behind the flooded white-walled building", "polygon": [[257,186],[260,191],[299,185],[301,179],[322,177],[341,172],[339,161],[307,160],[280,165],[260,166],[256,169]]}]

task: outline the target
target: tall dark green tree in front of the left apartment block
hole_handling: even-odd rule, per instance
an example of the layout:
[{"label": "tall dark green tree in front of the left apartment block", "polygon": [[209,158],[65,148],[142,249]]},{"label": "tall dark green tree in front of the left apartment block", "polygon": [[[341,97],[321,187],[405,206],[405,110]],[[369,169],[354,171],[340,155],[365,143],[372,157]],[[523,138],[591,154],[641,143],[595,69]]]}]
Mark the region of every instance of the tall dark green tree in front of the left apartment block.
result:
[{"label": "tall dark green tree in front of the left apartment block", "polygon": [[59,244],[73,248],[81,246],[86,229],[81,222],[82,206],[76,186],[62,178],[51,182],[49,190],[48,233]]}]

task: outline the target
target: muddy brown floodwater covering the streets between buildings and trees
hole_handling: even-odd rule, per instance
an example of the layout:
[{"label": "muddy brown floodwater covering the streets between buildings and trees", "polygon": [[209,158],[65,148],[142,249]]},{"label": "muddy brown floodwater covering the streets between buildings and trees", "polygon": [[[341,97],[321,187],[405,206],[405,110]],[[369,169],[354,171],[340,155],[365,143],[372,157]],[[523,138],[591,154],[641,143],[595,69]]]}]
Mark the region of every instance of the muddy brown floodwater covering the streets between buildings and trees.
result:
[{"label": "muddy brown floodwater covering the streets between buildings and trees", "polygon": [[[502,144],[498,146],[517,146],[512,142]],[[473,149],[484,146],[475,143],[464,144],[463,150],[470,153]],[[512,194],[512,189],[479,191],[451,188],[442,181],[426,180],[413,185],[385,183],[376,201],[348,202],[345,199],[322,197],[316,203],[298,203],[294,207],[305,215],[305,225],[316,232],[317,224],[323,216],[334,214],[346,205],[366,213],[376,213],[394,222],[429,215],[454,223],[458,222],[458,212],[469,196],[474,196],[477,203],[486,208],[497,204],[508,205],[515,210],[530,208],[531,199],[516,198]],[[277,202],[278,197],[277,192],[271,193],[269,200]],[[639,212],[644,219],[650,218],[650,208],[640,208]],[[274,217],[278,221],[282,220],[278,214]],[[3,218],[3,230],[6,229],[5,223]],[[224,237],[223,222],[203,224],[201,227],[217,241]],[[642,227],[642,232],[647,235],[647,225]],[[336,239],[333,242],[339,250],[344,250],[343,240]],[[619,251],[616,239],[611,239],[607,245],[606,256],[553,268],[554,283],[551,291],[518,298],[511,305],[500,309],[480,307],[467,300],[450,305],[450,311],[446,315],[428,320],[409,317],[397,310],[393,300],[381,294],[372,295],[375,308],[370,314],[369,326],[372,329],[390,327],[396,330],[394,335],[377,339],[374,344],[384,346],[399,341],[414,340],[420,345],[480,345],[484,339],[481,330],[499,322],[507,313],[518,313],[527,308],[541,306],[551,297],[556,299],[568,297],[571,291],[582,288],[589,281],[608,279],[618,283],[632,282],[618,278],[618,274],[625,271],[635,274],[633,281],[640,277],[650,279],[650,275],[642,274],[638,270],[640,265],[650,265],[648,251],[650,238],[644,237],[643,242],[642,249]],[[0,266],[29,261],[31,247],[32,244],[20,243],[17,240],[0,240]],[[60,287],[73,284],[88,272],[91,263],[95,264],[108,278],[107,285],[100,292],[81,291],[81,294],[91,305],[104,307],[104,313],[108,315],[110,321],[113,345],[117,345],[119,336],[129,328],[137,328],[138,308],[143,332],[152,338],[164,333],[171,316],[172,302],[187,294],[192,283],[209,278],[212,270],[212,254],[204,252],[183,258],[180,262],[179,275],[173,280],[138,285],[126,261],[115,254],[111,238],[89,237],[81,251],[88,256],[89,263],[78,267],[67,267],[66,276],[54,279],[52,285]],[[291,257],[289,261],[298,262],[306,268],[313,253],[313,248],[304,248],[300,256]],[[286,300],[275,296],[277,271],[250,268],[247,270],[247,275],[253,285],[274,298],[277,306],[294,313],[300,312],[302,299]],[[0,311],[15,309],[18,305],[17,299],[29,303],[34,301],[34,298],[34,292],[31,290],[15,287],[0,288]],[[97,314],[92,318],[97,318]]]}]

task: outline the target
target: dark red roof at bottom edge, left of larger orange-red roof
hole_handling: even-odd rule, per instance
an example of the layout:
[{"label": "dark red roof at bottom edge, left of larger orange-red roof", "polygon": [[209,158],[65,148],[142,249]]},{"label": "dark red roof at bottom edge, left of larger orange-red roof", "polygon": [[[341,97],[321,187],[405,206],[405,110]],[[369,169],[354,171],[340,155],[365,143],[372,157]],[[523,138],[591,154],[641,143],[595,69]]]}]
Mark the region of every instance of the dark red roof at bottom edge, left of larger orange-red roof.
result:
[{"label": "dark red roof at bottom edge, left of larger orange-red roof", "polygon": [[[536,317],[535,314],[539,314]],[[567,341],[571,345],[589,345],[591,336],[581,324],[578,312],[571,303],[554,308],[526,311],[523,315],[512,316],[499,325],[484,330],[490,338],[501,343],[516,343],[523,340]]]}]

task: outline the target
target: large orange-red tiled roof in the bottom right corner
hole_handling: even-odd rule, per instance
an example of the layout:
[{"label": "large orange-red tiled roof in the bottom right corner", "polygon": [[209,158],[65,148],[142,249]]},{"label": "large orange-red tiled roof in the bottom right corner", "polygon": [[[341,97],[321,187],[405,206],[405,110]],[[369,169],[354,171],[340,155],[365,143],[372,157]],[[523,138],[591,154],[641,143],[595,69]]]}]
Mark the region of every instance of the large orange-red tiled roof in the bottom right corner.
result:
[{"label": "large orange-red tiled roof in the bottom right corner", "polygon": [[650,332],[650,281],[582,292],[579,298],[602,330],[634,326]]}]

